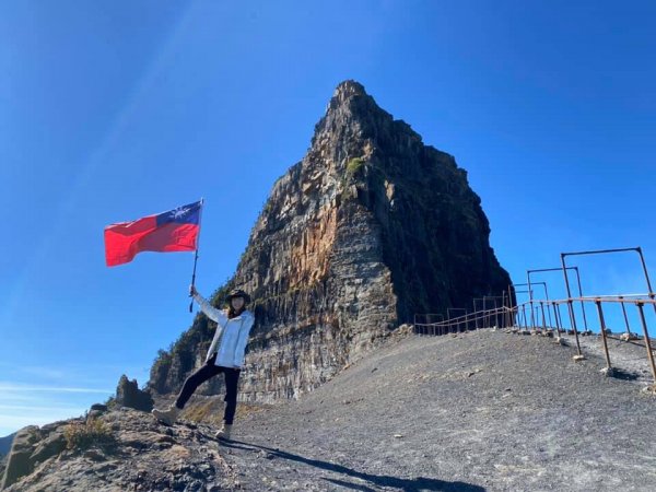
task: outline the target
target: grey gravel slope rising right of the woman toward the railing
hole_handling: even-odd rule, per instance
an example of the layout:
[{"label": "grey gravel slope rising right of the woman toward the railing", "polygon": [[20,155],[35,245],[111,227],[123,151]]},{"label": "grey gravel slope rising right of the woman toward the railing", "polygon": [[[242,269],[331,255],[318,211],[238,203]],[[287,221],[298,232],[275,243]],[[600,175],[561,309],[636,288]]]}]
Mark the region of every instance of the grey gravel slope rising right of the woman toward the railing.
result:
[{"label": "grey gravel slope rising right of the woman toward the railing", "polygon": [[408,338],[245,415],[221,455],[246,490],[656,490],[656,398],[574,354],[503,331]]}]

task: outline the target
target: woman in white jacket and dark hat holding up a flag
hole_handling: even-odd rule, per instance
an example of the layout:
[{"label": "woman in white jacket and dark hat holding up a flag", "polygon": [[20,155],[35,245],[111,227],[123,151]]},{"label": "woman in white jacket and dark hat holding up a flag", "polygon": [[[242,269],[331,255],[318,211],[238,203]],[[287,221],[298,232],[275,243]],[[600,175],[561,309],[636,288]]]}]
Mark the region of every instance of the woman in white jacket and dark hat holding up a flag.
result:
[{"label": "woman in white jacket and dark hat holding up a flag", "polygon": [[216,437],[229,440],[237,408],[237,383],[244,366],[244,352],[255,320],[253,313],[246,309],[250,296],[242,290],[232,291],[225,298],[229,308],[222,311],[210,305],[194,285],[189,288],[189,294],[194,296],[206,316],[216,321],[216,331],[208,350],[206,364],[187,378],[175,403],[168,407],[168,410],[154,409],[153,415],[172,425],[196,388],[209,378],[223,373],[225,376],[225,398],[223,399],[225,413],[223,414],[223,426],[216,432]]}]

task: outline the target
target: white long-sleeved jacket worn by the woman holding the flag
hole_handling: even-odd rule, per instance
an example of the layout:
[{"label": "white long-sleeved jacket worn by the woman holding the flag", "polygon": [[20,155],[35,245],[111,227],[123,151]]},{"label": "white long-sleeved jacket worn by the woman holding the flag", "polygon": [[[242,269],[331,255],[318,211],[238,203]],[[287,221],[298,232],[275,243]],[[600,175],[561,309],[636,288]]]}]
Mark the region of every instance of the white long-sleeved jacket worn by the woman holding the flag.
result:
[{"label": "white long-sleeved jacket worn by the woman holding the flag", "polygon": [[206,316],[219,325],[210,350],[208,350],[206,362],[216,352],[215,365],[242,368],[248,335],[255,321],[253,313],[246,309],[239,316],[229,319],[226,312],[216,309],[198,292],[194,294],[194,300]]}]

